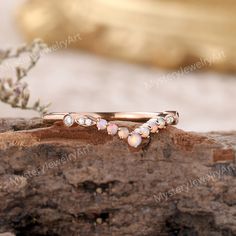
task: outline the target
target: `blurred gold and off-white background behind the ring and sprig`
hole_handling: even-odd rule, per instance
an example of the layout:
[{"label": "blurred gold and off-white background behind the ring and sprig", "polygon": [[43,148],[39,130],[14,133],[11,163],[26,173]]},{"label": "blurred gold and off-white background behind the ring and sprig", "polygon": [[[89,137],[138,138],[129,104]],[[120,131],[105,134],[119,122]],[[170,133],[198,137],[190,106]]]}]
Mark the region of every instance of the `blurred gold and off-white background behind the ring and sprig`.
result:
[{"label": "blurred gold and off-white background behind the ring and sprig", "polygon": [[26,81],[50,111],[178,110],[185,130],[236,128],[233,0],[5,0],[0,22],[0,49],[48,43]]}]

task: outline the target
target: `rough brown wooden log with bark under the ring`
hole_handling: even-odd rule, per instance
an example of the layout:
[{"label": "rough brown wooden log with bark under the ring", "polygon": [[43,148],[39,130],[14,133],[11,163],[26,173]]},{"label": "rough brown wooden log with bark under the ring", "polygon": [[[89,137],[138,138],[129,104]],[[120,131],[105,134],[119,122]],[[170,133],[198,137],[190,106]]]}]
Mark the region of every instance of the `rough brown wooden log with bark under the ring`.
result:
[{"label": "rough brown wooden log with bark under the ring", "polygon": [[170,127],[132,149],[40,119],[0,130],[0,233],[236,235],[236,132]]}]

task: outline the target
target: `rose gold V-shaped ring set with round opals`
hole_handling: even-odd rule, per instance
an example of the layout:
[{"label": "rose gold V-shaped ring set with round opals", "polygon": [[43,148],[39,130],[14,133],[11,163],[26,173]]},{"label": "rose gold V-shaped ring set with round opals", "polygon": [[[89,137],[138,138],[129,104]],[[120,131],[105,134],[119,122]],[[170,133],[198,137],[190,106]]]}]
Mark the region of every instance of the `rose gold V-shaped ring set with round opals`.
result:
[{"label": "rose gold V-shaped ring set with round opals", "polygon": [[[63,121],[67,127],[79,125],[83,127],[97,126],[98,130],[107,130],[109,135],[127,139],[132,147],[138,147],[142,138],[149,138],[150,133],[158,133],[168,125],[176,125],[179,121],[177,111],[165,112],[69,112],[49,113],[43,117],[44,122]],[[135,130],[117,124],[119,121],[142,122]]]}]

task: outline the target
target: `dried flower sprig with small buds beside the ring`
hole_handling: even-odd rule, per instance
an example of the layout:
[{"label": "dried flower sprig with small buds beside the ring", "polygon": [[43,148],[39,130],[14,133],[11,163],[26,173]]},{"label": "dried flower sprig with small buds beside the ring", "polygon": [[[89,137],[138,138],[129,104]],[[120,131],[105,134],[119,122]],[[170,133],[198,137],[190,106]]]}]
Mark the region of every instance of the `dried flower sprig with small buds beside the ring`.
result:
[{"label": "dried flower sprig with small buds beside the ring", "polygon": [[37,111],[40,114],[47,112],[48,105],[41,105],[40,100],[33,105],[29,105],[30,91],[28,84],[22,79],[28,75],[28,72],[36,65],[40,58],[40,53],[46,45],[41,40],[34,40],[29,45],[24,45],[16,49],[8,49],[0,51],[0,66],[6,60],[19,59],[23,55],[27,55],[29,63],[27,66],[16,66],[15,78],[5,78],[0,76],[0,101],[11,105],[14,108],[21,108],[24,110]]}]

